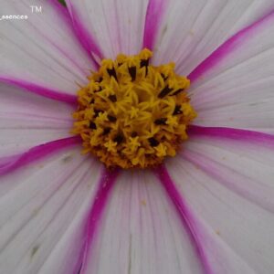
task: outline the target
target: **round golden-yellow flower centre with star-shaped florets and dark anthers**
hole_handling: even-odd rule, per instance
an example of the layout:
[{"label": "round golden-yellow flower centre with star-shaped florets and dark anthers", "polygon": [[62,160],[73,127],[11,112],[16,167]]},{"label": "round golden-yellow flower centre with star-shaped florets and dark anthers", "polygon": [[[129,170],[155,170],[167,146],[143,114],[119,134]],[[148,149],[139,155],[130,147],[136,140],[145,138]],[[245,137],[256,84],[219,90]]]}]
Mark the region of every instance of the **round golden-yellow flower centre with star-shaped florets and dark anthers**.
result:
[{"label": "round golden-yellow flower centre with star-shaped florets and dark anthers", "polygon": [[189,79],[174,72],[174,63],[150,65],[152,56],[144,48],[103,59],[78,91],[72,133],[81,136],[83,153],[109,168],[153,167],[173,157],[195,119]]}]

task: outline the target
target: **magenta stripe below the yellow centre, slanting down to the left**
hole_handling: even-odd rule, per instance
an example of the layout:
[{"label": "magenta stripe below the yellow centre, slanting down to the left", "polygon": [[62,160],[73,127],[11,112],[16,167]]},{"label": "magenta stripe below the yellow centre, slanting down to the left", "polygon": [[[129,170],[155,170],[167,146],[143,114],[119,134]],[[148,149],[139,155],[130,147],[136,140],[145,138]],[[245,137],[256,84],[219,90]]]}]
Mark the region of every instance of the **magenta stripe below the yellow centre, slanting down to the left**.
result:
[{"label": "magenta stripe below the yellow centre, slanting down to the left", "polygon": [[[99,188],[95,195],[93,205],[91,205],[90,213],[88,216],[85,232],[85,246],[82,250],[79,261],[79,267],[81,266],[80,273],[85,272],[85,269],[87,269],[92,240],[96,234],[103,210],[107,204],[108,197],[111,193],[111,189],[116,181],[118,174],[118,170],[109,171],[105,168],[102,170]],[[77,269],[76,273],[78,273],[78,271],[79,269]]]}]

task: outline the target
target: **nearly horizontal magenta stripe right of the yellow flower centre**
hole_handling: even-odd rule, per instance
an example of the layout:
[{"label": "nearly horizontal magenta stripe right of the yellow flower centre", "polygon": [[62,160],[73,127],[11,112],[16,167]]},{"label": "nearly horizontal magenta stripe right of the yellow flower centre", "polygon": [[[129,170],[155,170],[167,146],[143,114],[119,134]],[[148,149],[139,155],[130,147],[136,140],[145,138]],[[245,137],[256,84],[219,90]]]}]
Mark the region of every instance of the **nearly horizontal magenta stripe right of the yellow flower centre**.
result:
[{"label": "nearly horizontal magenta stripe right of the yellow flower centre", "polygon": [[195,125],[189,126],[187,132],[190,137],[192,135],[204,135],[217,138],[227,138],[236,141],[259,142],[261,145],[274,145],[274,135],[263,132],[223,127],[202,127]]}]

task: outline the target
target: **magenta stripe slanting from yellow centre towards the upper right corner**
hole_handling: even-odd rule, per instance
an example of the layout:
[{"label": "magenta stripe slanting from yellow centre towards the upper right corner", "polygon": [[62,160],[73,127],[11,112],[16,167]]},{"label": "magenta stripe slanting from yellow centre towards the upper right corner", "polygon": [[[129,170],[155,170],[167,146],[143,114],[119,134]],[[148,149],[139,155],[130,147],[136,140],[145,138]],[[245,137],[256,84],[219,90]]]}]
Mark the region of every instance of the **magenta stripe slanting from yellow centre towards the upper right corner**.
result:
[{"label": "magenta stripe slanting from yellow centre towards the upper right corner", "polygon": [[223,58],[226,58],[227,55],[237,49],[237,47],[245,43],[248,37],[254,36],[254,31],[256,31],[257,27],[272,18],[273,15],[274,11],[271,11],[267,16],[262,17],[257,22],[243,28],[237,32],[237,34],[230,37],[224,44],[217,47],[209,57],[205,58],[205,60],[188,75],[188,79],[190,79],[191,82],[194,82],[205,74],[207,70],[215,67]]}]

